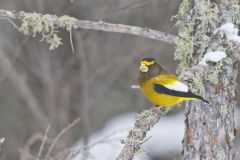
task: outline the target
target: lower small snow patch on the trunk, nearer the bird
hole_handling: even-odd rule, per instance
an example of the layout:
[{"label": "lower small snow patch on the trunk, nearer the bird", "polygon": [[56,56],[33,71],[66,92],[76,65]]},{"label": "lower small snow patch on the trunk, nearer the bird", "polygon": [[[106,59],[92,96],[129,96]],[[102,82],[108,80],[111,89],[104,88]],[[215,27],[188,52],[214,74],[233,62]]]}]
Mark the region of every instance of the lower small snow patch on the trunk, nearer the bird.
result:
[{"label": "lower small snow patch on the trunk, nearer the bird", "polygon": [[199,62],[200,65],[207,66],[207,62],[215,62],[222,60],[223,58],[226,58],[227,54],[223,51],[214,51],[214,52],[207,52],[202,61]]}]

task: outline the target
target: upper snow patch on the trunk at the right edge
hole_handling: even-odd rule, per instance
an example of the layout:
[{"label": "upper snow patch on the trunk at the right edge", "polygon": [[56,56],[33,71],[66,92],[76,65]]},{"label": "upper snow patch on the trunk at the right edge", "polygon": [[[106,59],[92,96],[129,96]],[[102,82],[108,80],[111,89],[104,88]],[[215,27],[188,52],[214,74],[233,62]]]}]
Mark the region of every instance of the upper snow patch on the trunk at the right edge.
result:
[{"label": "upper snow patch on the trunk at the right edge", "polygon": [[240,43],[240,36],[238,35],[238,28],[233,23],[225,23],[214,31],[214,34],[222,31],[226,34],[228,40]]}]

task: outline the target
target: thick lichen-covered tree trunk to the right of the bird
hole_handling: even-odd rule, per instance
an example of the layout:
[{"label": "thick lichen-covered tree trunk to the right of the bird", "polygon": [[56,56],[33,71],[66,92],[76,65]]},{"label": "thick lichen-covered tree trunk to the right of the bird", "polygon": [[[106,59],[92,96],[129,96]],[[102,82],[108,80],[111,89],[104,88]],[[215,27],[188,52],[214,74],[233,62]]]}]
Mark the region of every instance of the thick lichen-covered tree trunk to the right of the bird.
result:
[{"label": "thick lichen-covered tree trunk to the right of the bird", "polygon": [[[180,38],[175,58],[180,60],[179,70],[185,75],[182,78],[193,82],[189,83],[195,86],[192,90],[210,102],[190,102],[186,107],[184,160],[234,159],[239,42],[219,27],[226,23],[239,25],[239,8],[237,0],[183,0],[176,16]],[[226,58],[205,63],[204,55],[219,54],[215,51],[225,52]]]}]

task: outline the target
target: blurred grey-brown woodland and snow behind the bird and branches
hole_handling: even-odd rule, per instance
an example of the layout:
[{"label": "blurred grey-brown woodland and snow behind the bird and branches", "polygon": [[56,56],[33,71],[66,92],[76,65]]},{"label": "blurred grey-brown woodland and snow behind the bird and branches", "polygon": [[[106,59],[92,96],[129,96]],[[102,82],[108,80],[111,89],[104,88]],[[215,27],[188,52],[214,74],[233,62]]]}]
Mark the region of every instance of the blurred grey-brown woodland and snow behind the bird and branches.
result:
[{"label": "blurred grey-brown woodland and snow behind the bird and branches", "polygon": [[[70,15],[171,34],[177,34],[170,19],[179,4],[180,0],[0,1],[5,10]],[[41,36],[24,36],[8,21],[0,20],[0,138],[6,138],[1,160],[30,159],[37,155],[48,125],[51,142],[79,117],[80,123],[64,133],[51,156],[67,148],[89,146],[76,159],[114,159],[136,112],[151,106],[139,90],[131,89],[136,84],[139,60],[154,57],[175,72],[175,48],[164,42],[78,29],[73,31],[73,54],[69,33],[61,30],[60,35],[63,45],[49,51],[49,46],[40,42]],[[168,114],[156,131],[149,133],[152,138],[144,146],[141,159],[179,159],[183,121],[181,108]],[[109,150],[112,155],[104,157]]]}]

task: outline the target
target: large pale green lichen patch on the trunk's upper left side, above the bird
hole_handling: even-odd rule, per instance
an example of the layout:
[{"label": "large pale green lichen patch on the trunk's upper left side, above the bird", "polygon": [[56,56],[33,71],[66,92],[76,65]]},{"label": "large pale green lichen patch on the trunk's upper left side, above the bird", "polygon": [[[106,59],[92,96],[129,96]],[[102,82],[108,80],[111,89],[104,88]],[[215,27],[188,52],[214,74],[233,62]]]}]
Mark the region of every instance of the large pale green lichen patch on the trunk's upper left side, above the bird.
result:
[{"label": "large pale green lichen patch on the trunk's upper left side, above the bird", "polygon": [[[179,30],[174,55],[175,59],[180,61],[178,72],[187,70],[190,65],[199,61],[199,54],[203,54],[210,41],[210,38],[206,36],[210,29],[205,26],[213,26],[219,19],[219,9],[210,0],[195,1],[193,8],[191,5],[191,1],[183,0],[178,14],[173,17],[177,19],[176,26]],[[193,12],[196,11],[201,16],[192,17]],[[196,27],[200,28],[196,29]]]}]

